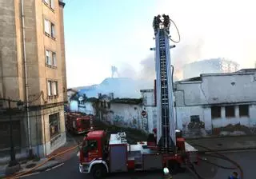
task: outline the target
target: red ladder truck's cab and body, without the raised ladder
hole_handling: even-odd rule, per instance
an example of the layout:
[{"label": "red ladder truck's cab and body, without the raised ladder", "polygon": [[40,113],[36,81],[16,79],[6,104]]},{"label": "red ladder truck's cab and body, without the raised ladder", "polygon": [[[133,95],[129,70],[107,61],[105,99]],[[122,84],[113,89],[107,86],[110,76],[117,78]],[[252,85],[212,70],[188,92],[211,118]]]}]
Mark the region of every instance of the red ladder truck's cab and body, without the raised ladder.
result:
[{"label": "red ladder truck's cab and body, without the raised ladder", "polygon": [[[80,173],[90,173],[95,179],[106,173],[160,170],[169,167],[173,172],[186,165],[186,160],[197,161],[197,150],[182,137],[177,139],[177,151],[161,151],[147,145],[146,141],[130,145],[126,133],[114,133],[107,140],[103,130],[91,131],[84,137],[80,150]],[[189,157],[188,157],[189,156]]]}]

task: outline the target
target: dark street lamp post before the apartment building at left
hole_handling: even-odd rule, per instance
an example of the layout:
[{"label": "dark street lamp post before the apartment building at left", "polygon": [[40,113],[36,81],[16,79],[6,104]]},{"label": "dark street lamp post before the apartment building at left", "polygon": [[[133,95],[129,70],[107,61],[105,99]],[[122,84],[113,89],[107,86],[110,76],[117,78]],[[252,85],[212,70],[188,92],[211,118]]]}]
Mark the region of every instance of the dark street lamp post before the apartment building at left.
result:
[{"label": "dark street lamp post before the apartment building at left", "polygon": [[18,161],[16,160],[16,156],[15,156],[15,150],[14,150],[14,138],[13,138],[13,122],[11,120],[11,116],[12,116],[12,109],[10,106],[10,102],[16,102],[18,109],[22,109],[22,106],[24,105],[24,103],[22,101],[14,101],[11,100],[10,97],[8,99],[4,99],[4,98],[0,98],[0,100],[3,101],[8,101],[8,115],[9,115],[9,123],[10,123],[10,162],[9,162],[9,166],[14,166],[14,165],[18,165]]}]

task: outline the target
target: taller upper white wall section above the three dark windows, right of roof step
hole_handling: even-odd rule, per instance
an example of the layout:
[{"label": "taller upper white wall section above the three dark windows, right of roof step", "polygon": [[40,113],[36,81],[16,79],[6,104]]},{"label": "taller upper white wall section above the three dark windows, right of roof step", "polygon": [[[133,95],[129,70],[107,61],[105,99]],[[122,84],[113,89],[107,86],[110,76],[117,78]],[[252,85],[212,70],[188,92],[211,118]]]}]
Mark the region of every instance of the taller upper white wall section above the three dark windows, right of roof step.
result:
[{"label": "taller upper white wall section above the three dark windows, right of roof step", "polygon": [[202,78],[202,90],[210,104],[256,101],[255,77],[255,74],[206,76]]}]

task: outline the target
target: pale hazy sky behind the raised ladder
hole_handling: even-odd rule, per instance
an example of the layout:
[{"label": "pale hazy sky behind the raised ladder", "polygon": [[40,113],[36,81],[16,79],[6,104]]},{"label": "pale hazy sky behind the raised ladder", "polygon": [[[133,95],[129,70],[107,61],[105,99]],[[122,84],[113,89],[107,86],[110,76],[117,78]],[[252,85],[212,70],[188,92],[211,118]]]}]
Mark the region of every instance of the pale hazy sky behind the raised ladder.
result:
[{"label": "pale hazy sky behind the raised ladder", "polygon": [[[68,87],[110,77],[140,76],[154,62],[154,15],[169,14],[182,41],[172,50],[174,67],[205,58],[228,58],[242,68],[256,61],[253,0],[66,0],[65,38]],[[177,31],[171,26],[177,39]],[[153,64],[153,63],[151,63]],[[144,69],[145,70],[145,69]]]}]

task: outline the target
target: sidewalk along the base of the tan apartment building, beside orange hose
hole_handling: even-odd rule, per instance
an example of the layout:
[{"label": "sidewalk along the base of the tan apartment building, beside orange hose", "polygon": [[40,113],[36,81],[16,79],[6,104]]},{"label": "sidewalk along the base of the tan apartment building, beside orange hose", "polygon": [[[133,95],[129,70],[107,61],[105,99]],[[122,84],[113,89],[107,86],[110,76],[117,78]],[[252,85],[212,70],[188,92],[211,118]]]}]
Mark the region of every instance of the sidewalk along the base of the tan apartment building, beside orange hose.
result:
[{"label": "sidewalk along the base of the tan apartment building, beside orange hose", "polygon": [[[57,157],[54,157],[54,156],[58,153],[62,153],[64,151],[66,151],[67,149],[70,149],[76,145],[78,145],[76,141],[74,141],[70,138],[69,139],[67,138],[65,145],[54,150],[54,152],[50,153],[50,155],[47,157],[41,158],[40,160],[19,161],[20,169],[18,170],[18,172],[16,174],[25,173],[27,171],[30,171],[31,169],[33,169],[33,170],[30,173],[37,173],[37,172],[42,172],[42,171],[46,171],[47,169],[57,167],[58,165],[61,165],[64,161],[67,161],[71,157],[76,155],[78,153],[78,149],[73,149],[73,150],[71,150],[67,153],[63,153],[62,155],[57,156]],[[54,158],[49,160],[50,157],[54,157]],[[44,162],[46,162],[46,163],[44,165],[42,165],[42,163],[44,163]],[[34,169],[34,167],[38,166],[38,165],[42,165],[42,166],[38,167],[37,169]],[[8,164],[0,165],[0,178],[11,174],[11,173],[8,173],[8,171],[6,170],[7,166],[8,166]]]}]

